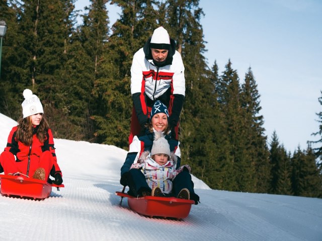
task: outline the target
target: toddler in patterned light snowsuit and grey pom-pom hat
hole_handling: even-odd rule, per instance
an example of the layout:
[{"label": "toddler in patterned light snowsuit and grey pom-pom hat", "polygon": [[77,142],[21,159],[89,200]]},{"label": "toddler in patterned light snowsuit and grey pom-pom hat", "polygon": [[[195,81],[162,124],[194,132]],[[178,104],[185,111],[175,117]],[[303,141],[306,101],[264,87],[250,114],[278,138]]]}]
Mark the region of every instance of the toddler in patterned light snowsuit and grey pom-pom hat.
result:
[{"label": "toddler in patterned light snowsuit and grey pom-pom hat", "polygon": [[168,141],[161,132],[154,135],[151,153],[145,151],[141,154],[137,163],[133,163],[132,168],[141,169],[148,186],[153,190],[159,187],[163,193],[169,194],[172,191],[172,180],[184,170],[190,170],[189,165],[176,169],[176,155],[170,153]]}]

